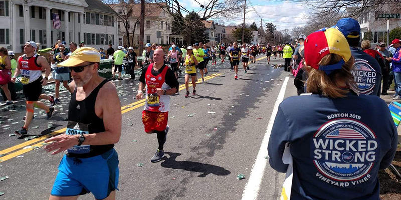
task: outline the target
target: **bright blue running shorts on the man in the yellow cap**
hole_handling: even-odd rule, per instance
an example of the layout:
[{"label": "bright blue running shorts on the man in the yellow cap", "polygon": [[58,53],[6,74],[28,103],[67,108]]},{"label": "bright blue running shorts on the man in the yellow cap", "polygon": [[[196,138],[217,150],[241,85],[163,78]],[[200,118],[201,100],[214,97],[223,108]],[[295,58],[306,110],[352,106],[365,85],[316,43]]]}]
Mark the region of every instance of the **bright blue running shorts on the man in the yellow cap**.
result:
[{"label": "bright blue running shorts on the man in the yellow cap", "polygon": [[96,199],[104,199],[118,190],[118,162],[114,148],[83,159],[64,155],[51,195],[77,196],[92,192]]}]

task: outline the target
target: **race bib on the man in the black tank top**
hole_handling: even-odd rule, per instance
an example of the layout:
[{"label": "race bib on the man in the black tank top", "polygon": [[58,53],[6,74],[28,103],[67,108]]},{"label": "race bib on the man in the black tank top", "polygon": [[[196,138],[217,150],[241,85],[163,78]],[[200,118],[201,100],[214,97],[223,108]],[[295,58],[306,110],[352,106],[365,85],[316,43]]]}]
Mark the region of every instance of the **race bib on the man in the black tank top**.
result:
[{"label": "race bib on the man in the black tank top", "polygon": [[[67,135],[87,135],[89,134],[89,125],[84,123],[78,123],[75,121],[68,121],[66,134]],[[81,146],[73,146],[67,149],[68,153],[75,153],[75,154],[84,154],[89,153],[91,151],[90,145],[81,145]]]}]

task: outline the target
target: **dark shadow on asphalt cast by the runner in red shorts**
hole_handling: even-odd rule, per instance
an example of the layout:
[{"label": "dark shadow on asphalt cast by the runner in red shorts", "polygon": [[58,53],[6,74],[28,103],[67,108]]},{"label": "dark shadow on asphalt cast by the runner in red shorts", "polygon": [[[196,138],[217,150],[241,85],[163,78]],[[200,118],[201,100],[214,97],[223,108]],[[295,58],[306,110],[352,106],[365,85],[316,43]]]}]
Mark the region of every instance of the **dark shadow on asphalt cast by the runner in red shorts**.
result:
[{"label": "dark shadow on asphalt cast by the runner in red shorts", "polygon": [[164,162],[161,163],[161,166],[164,168],[172,168],[172,169],[183,169],[185,171],[193,171],[202,173],[198,175],[198,177],[206,177],[209,174],[214,175],[229,175],[231,172],[224,169],[220,166],[215,166],[211,164],[203,164],[199,162],[192,162],[192,161],[177,161],[176,158],[181,153],[172,153],[172,152],[164,152],[165,154],[170,155],[169,158],[164,157]]}]

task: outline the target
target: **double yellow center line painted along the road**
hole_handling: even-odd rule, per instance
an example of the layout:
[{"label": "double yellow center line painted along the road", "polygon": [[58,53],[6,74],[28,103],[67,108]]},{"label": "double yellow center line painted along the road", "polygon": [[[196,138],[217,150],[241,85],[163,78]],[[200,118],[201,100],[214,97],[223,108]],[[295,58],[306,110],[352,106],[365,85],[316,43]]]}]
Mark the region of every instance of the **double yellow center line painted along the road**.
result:
[{"label": "double yellow center line painted along the road", "polygon": [[[209,80],[209,79],[212,79],[212,78],[214,78],[214,77],[219,77],[220,75],[222,75],[222,73],[219,73],[219,74],[212,74],[212,75],[210,75],[210,76],[208,76],[208,77],[205,77],[204,80]],[[201,81],[199,80],[199,81],[197,81],[196,83],[200,83],[200,82],[201,82]],[[190,83],[189,86],[191,86],[191,85],[192,85],[192,84]],[[179,91],[180,91],[180,90],[183,90],[183,89],[185,89],[185,84],[184,84],[184,85],[181,85],[181,86],[179,87]],[[142,107],[143,105],[145,105],[144,100],[145,100],[145,99],[142,99],[142,100],[139,100],[139,101],[137,101],[137,102],[135,102],[135,103],[131,103],[129,106],[124,106],[126,109],[121,110],[121,113],[124,114],[124,113],[129,112],[129,111],[131,111],[131,110],[134,110],[134,109],[136,109],[136,108],[138,108],[138,107]],[[52,132],[52,133],[50,133],[50,134],[43,135],[43,136],[41,136],[41,137],[38,137],[38,138],[35,138],[35,139],[32,139],[32,140],[26,141],[26,142],[24,142],[24,143],[21,143],[21,144],[12,146],[12,147],[7,148],[7,149],[5,149],[5,150],[2,150],[2,151],[0,151],[0,154],[7,154],[7,153],[9,153],[9,152],[15,151],[15,150],[20,149],[20,148],[24,148],[24,147],[26,147],[26,146],[28,146],[28,145],[30,145],[30,144],[33,144],[33,143],[38,142],[38,143],[36,143],[36,144],[34,144],[34,145],[31,145],[31,148],[21,149],[21,150],[18,150],[18,151],[16,151],[16,152],[13,152],[13,153],[10,153],[10,154],[8,154],[8,155],[5,155],[5,156],[3,156],[3,157],[0,157],[0,163],[4,162],[4,161],[6,161],[6,160],[12,159],[12,158],[14,158],[14,157],[17,157],[17,156],[19,156],[19,155],[22,155],[22,154],[24,154],[24,153],[26,153],[26,152],[29,152],[29,151],[31,151],[31,150],[34,150],[32,147],[42,147],[43,145],[42,145],[42,143],[40,143],[41,141],[43,141],[43,140],[45,140],[45,139],[47,139],[47,138],[49,138],[49,137],[52,137],[52,136],[61,134],[61,133],[65,132],[65,131],[66,131],[66,128],[62,128],[62,129],[56,130],[56,131],[54,131],[54,132]]]}]

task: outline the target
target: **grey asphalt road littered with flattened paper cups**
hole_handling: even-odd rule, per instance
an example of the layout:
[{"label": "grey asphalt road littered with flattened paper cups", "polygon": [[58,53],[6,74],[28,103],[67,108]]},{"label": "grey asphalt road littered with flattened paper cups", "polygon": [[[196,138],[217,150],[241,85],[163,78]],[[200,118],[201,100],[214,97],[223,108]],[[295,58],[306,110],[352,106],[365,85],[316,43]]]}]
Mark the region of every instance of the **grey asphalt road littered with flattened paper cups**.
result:
[{"label": "grey asphalt road littered with flattened paper cups", "polygon": [[[229,62],[213,67],[209,63],[209,74],[215,75],[197,85],[197,95],[185,98],[183,88],[180,95],[171,97],[166,157],[158,163],[150,162],[157,149],[156,135],[144,132],[142,101],[132,99],[138,81],[115,81],[124,106],[122,135],[115,146],[120,160],[117,199],[241,199],[286,77],[290,78],[284,96],[296,95],[288,72],[268,66],[265,56],[258,58],[261,60],[250,64],[247,74],[239,67],[238,80],[234,80]],[[270,65],[277,63],[284,61],[272,60]],[[51,120],[35,109],[37,116],[28,136],[41,137],[29,141],[9,137],[23,125],[25,107],[19,106],[23,102],[0,112],[0,154],[4,154],[0,176],[9,177],[0,182],[0,192],[5,192],[0,199],[48,198],[63,155],[32,147],[41,147],[49,133],[63,132],[68,102],[69,96],[63,93]],[[138,163],[144,165],[138,167]],[[237,180],[240,173],[245,179]],[[259,176],[257,199],[279,199],[284,174],[267,164]],[[79,199],[93,199],[93,195]]]}]

